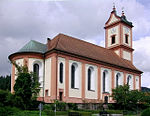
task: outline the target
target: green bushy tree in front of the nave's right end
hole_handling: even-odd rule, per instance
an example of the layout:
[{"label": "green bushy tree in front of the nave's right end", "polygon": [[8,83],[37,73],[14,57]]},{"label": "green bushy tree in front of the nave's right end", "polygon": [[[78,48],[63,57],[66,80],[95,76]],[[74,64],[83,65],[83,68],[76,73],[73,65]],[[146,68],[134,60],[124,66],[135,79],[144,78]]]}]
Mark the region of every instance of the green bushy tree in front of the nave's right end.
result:
[{"label": "green bushy tree in front of the nave's right end", "polygon": [[112,90],[113,100],[120,108],[134,109],[144,100],[144,94],[138,90],[130,90],[128,85],[119,86]]}]

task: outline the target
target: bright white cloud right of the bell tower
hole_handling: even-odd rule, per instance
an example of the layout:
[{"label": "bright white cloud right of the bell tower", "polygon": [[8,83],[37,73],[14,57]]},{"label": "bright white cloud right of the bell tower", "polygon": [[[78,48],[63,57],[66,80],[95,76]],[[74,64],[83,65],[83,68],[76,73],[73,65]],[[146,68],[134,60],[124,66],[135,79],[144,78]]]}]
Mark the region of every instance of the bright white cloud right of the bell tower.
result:
[{"label": "bright white cloud right of the bell tower", "polygon": [[134,64],[144,73],[142,74],[142,86],[150,86],[150,36],[140,38],[133,42]]}]

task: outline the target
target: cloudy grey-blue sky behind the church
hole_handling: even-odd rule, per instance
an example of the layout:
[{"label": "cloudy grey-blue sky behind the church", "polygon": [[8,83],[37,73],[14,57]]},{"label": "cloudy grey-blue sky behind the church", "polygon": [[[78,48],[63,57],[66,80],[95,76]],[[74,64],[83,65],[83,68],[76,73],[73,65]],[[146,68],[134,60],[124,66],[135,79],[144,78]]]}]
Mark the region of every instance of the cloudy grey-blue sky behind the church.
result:
[{"label": "cloudy grey-blue sky behind the church", "polygon": [[142,86],[150,87],[149,0],[0,0],[0,76],[11,73],[8,56],[30,40],[46,43],[64,33],[104,46],[113,3],[134,25],[134,65],[144,72]]}]

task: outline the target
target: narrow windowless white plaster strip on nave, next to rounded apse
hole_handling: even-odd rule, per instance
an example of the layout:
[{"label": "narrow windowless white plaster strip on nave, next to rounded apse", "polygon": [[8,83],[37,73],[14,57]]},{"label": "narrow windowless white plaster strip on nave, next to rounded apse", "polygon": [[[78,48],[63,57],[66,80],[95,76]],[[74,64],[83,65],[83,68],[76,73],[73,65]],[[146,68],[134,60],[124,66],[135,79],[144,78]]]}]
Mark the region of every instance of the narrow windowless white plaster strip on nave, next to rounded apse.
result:
[{"label": "narrow windowless white plaster strip on nave, next to rounded apse", "polygon": [[45,90],[48,90],[48,96],[51,94],[51,58],[45,60]]}]

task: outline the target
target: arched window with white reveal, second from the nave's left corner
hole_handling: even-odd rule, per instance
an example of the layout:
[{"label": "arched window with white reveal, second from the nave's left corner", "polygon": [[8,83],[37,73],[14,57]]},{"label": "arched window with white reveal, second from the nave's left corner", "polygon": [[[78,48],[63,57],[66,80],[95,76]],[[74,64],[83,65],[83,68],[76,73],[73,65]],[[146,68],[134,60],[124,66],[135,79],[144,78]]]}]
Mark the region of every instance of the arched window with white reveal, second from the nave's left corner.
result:
[{"label": "arched window with white reveal, second from the nave's left corner", "polygon": [[71,65],[71,88],[79,88],[79,69],[77,63]]}]

